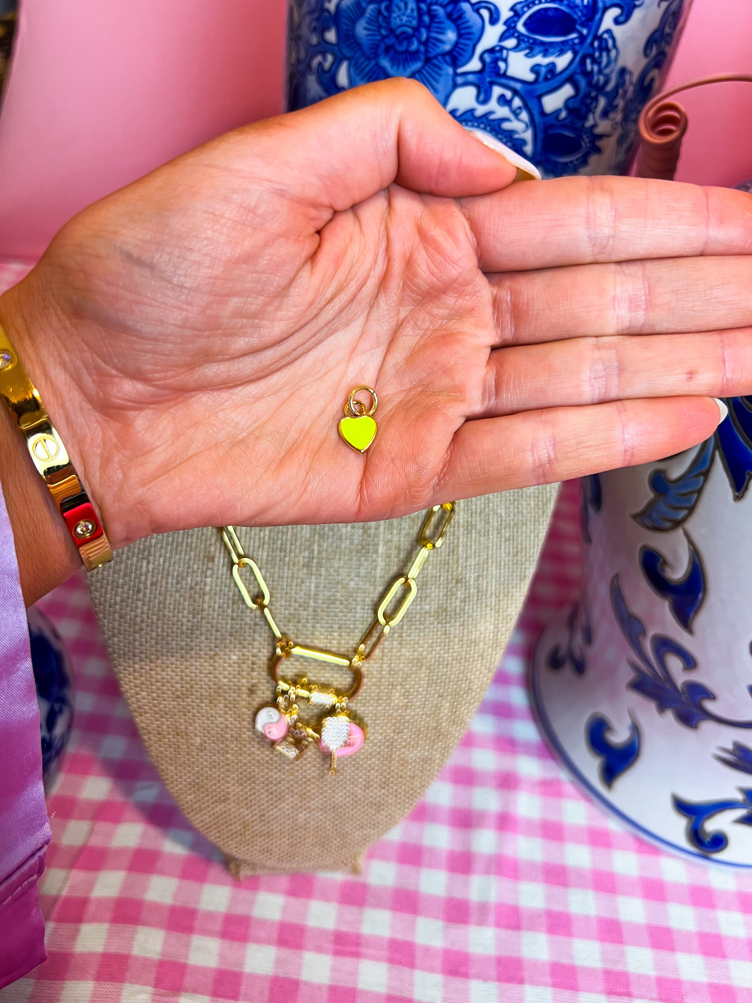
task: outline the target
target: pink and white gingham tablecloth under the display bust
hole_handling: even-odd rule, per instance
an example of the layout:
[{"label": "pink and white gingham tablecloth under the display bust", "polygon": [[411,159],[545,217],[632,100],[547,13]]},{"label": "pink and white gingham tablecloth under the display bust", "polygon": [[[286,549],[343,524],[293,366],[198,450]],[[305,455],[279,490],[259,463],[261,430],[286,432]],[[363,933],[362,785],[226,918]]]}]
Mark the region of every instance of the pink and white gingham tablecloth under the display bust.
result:
[{"label": "pink and white gingham tablecloth under the display bust", "polygon": [[578,555],[569,483],[466,735],[362,874],[242,884],[151,765],[83,578],[53,592],[40,605],[78,689],[48,800],[49,957],[0,1003],[752,1003],[752,875],[624,831],[530,717],[525,664],[577,591]]}]

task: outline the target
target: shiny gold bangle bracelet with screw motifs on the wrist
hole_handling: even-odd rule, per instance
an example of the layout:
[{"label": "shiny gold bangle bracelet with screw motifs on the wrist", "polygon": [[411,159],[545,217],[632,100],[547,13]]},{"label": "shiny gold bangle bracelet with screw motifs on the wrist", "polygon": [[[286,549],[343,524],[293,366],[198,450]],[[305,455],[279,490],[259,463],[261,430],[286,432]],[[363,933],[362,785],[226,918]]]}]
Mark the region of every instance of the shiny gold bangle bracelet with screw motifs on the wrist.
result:
[{"label": "shiny gold bangle bracelet with screw motifs on the wrist", "polygon": [[26,439],[34,466],[49,487],[86,571],[101,568],[112,560],[101,520],[1,325],[0,396]]}]

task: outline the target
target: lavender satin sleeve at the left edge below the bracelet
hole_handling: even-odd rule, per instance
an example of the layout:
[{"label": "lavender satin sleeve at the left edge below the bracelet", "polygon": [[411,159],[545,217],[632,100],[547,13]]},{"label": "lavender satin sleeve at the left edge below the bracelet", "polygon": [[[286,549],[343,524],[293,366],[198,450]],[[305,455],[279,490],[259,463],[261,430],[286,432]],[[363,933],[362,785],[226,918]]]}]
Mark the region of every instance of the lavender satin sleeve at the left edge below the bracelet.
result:
[{"label": "lavender satin sleeve at the left edge below the bracelet", "polygon": [[37,881],[50,840],[26,609],[0,489],[0,989],[44,961]]}]

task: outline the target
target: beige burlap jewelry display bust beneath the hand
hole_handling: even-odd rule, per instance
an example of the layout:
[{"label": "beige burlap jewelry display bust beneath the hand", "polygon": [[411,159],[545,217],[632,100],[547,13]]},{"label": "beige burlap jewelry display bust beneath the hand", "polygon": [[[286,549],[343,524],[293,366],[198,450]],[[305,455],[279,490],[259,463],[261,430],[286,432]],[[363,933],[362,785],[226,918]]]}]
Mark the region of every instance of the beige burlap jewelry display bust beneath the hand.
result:
[{"label": "beige burlap jewelry display bust beneath the hand", "polygon": [[[146,749],[234,873],[349,870],[410,810],[499,662],[554,496],[546,485],[458,504],[409,616],[366,663],[352,707],[368,740],[336,776],[318,749],[289,762],[254,731],[259,706],[274,699],[273,645],[264,617],[234,586],[217,530],[140,541],[89,577]],[[238,535],[282,629],[301,644],[352,652],[384,590],[409,567],[423,518]],[[348,678],[336,666],[306,669],[317,682]]]}]

